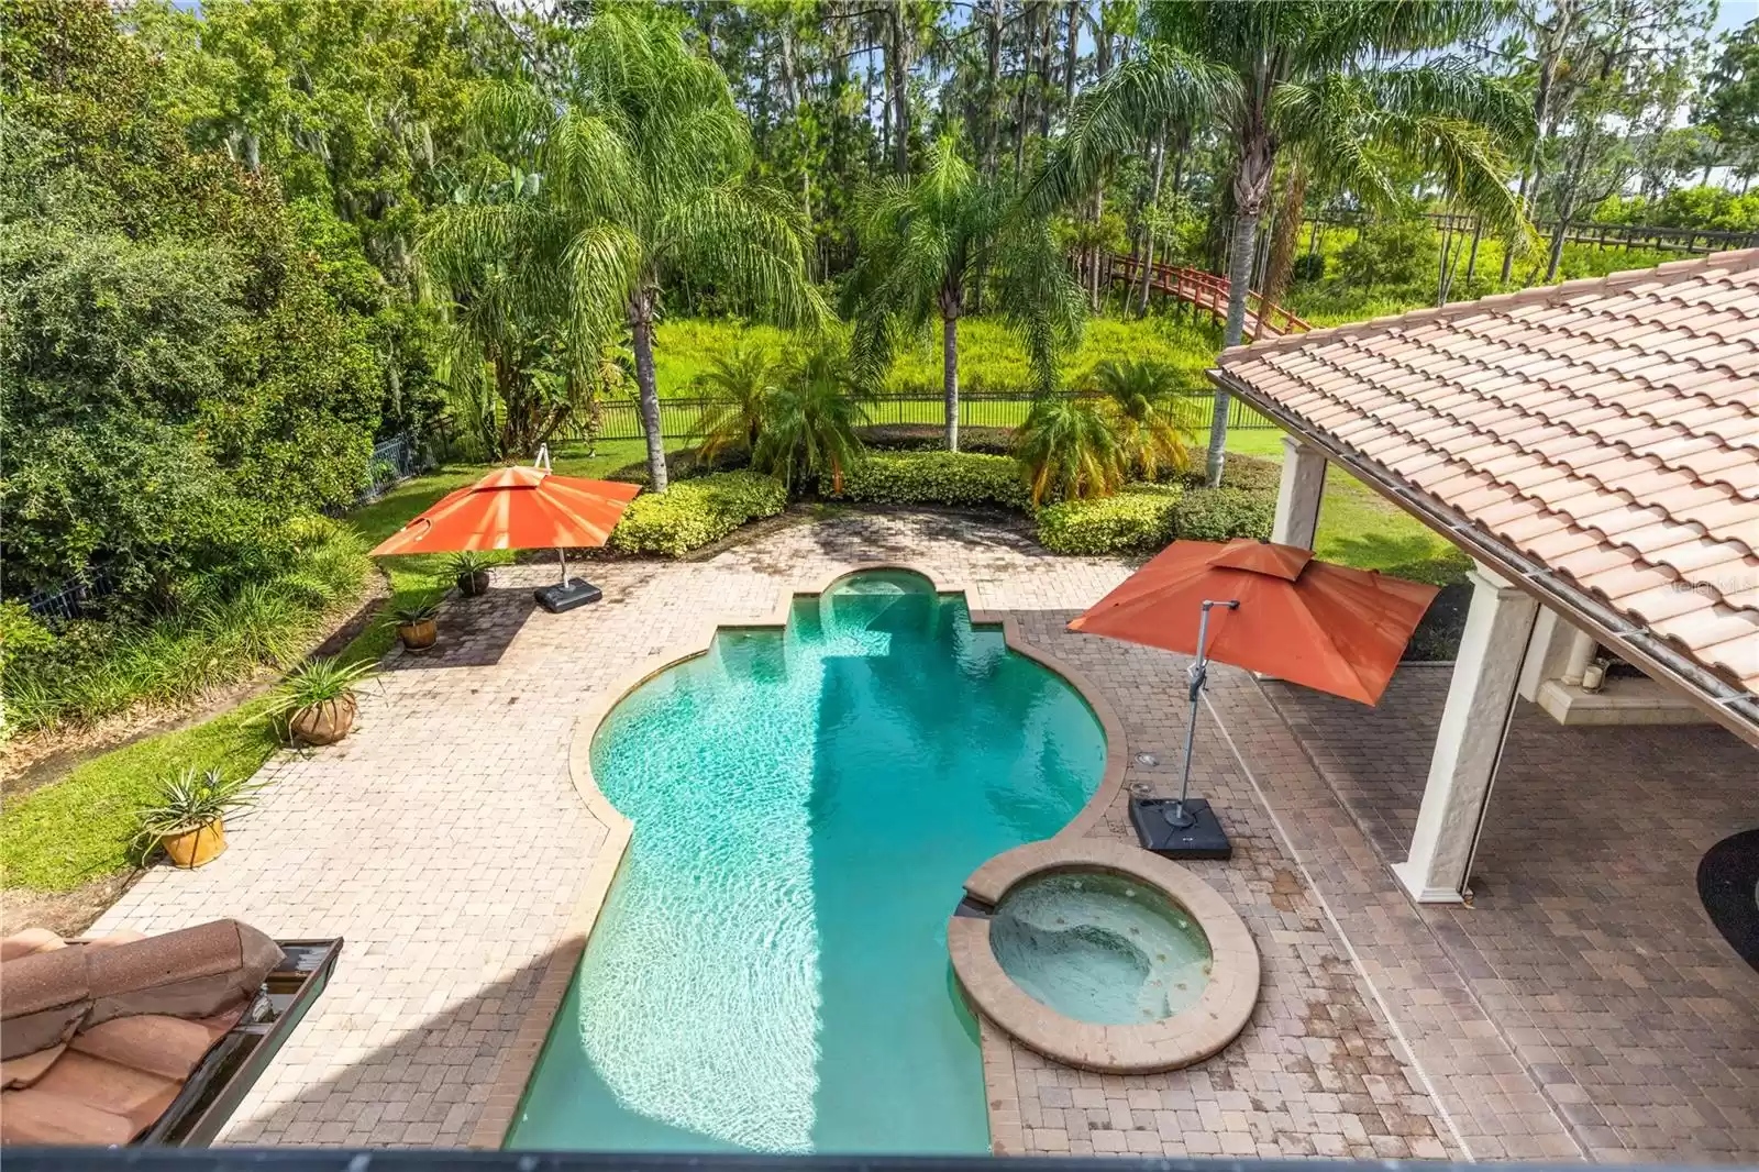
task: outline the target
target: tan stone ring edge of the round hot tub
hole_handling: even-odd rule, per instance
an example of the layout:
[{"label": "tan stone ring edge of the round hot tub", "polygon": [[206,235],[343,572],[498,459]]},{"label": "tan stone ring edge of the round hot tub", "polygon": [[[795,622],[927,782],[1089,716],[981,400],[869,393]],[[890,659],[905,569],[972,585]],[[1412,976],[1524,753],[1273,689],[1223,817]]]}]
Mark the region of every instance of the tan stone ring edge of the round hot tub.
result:
[{"label": "tan stone ring edge of the round hot tub", "polygon": [[1003,852],[971,873],[966,894],[996,906],[1010,889],[1048,871],[1105,871],[1150,887],[1184,908],[1210,941],[1210,977],[1194,1005],[1142,1026],[1077,1021],[1036,1001],[1003,971],[990,949],[990,920],[955,915],[946,924],[953,971],[973,1007],[1022,1045],[1068,1066],[1101,1073],[1149,1073],[1191,1066],[1233,1042],[1258,1005],[1258,945],[1245,920],[1196,875],[1128,843],[1048,838]]}]

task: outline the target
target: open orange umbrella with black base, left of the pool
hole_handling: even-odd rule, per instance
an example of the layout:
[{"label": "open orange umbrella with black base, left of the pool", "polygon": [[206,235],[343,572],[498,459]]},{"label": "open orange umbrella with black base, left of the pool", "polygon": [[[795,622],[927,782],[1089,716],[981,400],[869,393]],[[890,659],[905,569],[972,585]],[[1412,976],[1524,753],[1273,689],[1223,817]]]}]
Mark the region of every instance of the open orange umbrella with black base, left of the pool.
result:
[{"label": "open orange umbrella with black base, left of the pool", "polygon": [[549,452],[538,450],[531,468],[496,468],[471,486],[438,500],[378,544],[378,554],[463,553],[470,549],[556,549],[561,586],[536,591],[549,611],[595,602],[591,582],[568,584],[568,556],[561,551],[603,546],[630,507],[639,484],[559,477],[549,470]]}]

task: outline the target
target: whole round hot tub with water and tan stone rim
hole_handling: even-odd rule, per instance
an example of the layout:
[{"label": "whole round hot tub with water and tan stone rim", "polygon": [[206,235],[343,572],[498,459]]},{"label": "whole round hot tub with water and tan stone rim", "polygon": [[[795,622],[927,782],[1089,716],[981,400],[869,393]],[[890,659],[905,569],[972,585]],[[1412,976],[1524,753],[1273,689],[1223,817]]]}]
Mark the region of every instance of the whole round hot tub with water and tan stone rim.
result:
[{"label": "whole round hot tub with water and tan stone rim", "polygon": [[996,855],[966,880],[946,940],[978,1012],[1087,1070],[1203,1061],[1258,1003],[1258,949],[1238,913],[1126,843],[1052,838]]}]

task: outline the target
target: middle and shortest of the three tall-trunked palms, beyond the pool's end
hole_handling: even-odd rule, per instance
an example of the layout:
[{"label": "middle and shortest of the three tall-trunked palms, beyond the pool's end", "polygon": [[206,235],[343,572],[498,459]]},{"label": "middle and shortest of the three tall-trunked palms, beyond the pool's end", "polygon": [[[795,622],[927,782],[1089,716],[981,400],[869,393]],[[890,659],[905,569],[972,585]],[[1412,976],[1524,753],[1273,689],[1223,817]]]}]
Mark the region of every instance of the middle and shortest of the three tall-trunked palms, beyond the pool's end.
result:
[{"label": "middle and shortest of the three tall-trunked palms, beyond the pool's end", "polygon": [[[980,176],[952,136],[929,151],[916,179],[888,178],[857,199],[860,260],[850,275],[857,364],[874,377],[906,334],[941,320],[946,449],[959,450],[959,319],[982,292],[1025,340],[1040,385],[1078,333],[1085,299],[1050,223],[1013,213],[1006,181]],[[983,287],[989,285],[985,290]]]}]

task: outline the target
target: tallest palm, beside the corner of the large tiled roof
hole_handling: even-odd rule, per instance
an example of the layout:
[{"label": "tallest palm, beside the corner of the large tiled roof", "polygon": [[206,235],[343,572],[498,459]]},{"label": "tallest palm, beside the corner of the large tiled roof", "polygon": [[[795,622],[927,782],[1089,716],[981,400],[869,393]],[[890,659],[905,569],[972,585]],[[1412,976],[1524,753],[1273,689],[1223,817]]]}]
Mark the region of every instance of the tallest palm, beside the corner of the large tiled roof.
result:
[{"label": "tallest palm, beside the corner of the large tiled roof", "polygon": [[[1395,165],[1420,158],[1456,204],[1495,231],[1520,231],[1506,153],[1534,134],[1532,114],[1463,60],[1425,56],[1495,19],[1486,0],[1145,0],[1142,51],[1077,100],[1027,202],[1045,211],[1084,195],[1108,158],[1140,150],[1168,121],[1219,121],[1233,148],[1223,345],[1238,345],[1281,150],[1381,206],[1402,202]],[[1228,396],[1217,391],[1210,484],[1221,482],[1226,440]]]}]

